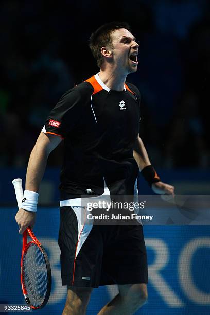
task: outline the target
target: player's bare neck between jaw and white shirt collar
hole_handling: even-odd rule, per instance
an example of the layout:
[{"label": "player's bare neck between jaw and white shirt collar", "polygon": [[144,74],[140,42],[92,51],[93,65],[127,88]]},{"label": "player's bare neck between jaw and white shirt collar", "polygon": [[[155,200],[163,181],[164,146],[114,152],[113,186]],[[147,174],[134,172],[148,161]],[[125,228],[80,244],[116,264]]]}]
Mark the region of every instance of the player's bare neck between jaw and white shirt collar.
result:
[{"label": "player's bare neck between jaw and white shirt collar", "polygon": [[111,90],[123,91],[127,75],[119,75],[115,72],[102,71],[99,72],[99,78]]}]

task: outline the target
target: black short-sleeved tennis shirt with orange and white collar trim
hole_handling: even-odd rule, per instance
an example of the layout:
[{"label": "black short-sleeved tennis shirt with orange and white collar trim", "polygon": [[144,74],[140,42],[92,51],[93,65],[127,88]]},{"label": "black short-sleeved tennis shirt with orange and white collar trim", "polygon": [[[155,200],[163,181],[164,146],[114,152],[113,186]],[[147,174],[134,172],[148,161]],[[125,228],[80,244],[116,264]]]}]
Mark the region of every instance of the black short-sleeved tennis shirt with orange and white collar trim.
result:
[{"label": "black short-sleeved tennis shirt with orange and white collar trim", "polygon": [[113,195],[133,194],[139,101],[133,84],[110,90],[98,74],[63,94],[42,129],[64,139],[61,200],[101,195],[104,180]]}]

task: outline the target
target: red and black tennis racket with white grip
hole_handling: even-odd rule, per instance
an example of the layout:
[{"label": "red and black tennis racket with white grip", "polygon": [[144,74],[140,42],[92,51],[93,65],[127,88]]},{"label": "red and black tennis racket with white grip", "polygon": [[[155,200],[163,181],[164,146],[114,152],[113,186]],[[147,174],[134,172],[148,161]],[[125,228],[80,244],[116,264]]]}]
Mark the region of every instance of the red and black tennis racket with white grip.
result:
[{"label": "red and black tennis racket with white grip", "polygon": [[[18,208],[23,199],[22,179],[12,181]],[[27,242],[27,234],[31,240]],[[46,305],[51,291],[51,269],[47,254],[33,234],[30,226],[23,232],[23,247],[21,256],[21,286],[26,303],[32,309]]]}]

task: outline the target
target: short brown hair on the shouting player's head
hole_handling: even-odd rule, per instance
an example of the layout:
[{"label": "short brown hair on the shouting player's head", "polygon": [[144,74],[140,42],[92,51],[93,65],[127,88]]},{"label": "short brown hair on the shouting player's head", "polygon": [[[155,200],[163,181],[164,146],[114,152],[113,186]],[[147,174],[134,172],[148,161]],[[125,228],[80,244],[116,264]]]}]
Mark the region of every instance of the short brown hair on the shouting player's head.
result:
[{"label": "short brown hair on the shouting player's head", "polygon": [[115,29],[125,28],[130,31],[130,25],[127,22],[109,22],[100,26],[94,33],[91,34],[89,39],[89,47],[91,48],[93,57],[97,60],[98,67],[100,68],[103,63],[101,54],[101,47],[109,46],[113,48],[111,33]]}]

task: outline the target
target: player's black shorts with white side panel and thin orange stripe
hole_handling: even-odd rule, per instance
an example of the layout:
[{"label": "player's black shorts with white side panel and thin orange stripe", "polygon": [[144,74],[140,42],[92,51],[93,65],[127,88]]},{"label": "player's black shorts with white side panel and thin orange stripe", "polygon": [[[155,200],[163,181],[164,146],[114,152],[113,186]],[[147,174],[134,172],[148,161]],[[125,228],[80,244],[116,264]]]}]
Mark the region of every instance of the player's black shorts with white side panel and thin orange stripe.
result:
[{"label": "player's black shorts with white side panel and thin orange stripe", "polygon": [[148,283],[142,225],[82,224],[81,209],[60,207],[62,285],[98,288]]}]

